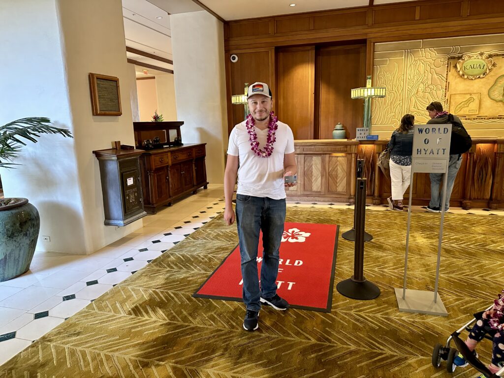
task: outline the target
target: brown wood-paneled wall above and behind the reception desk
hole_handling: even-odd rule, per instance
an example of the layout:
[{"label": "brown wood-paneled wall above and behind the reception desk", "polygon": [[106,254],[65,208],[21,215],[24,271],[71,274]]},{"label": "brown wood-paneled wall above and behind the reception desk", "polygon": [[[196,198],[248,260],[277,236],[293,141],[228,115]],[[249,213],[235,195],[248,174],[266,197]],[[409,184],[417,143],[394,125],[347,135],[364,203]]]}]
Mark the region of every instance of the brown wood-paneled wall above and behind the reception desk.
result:
[{"label": "brown wood-paneled wall above and behind the reception desk", "polygon": [[[243,106],[231,105],[230,96],[245,82],[264,81],[296,139],[332,138],[337,122],[353,138],[362,103],[349,92],[372,74],[375,42],[491,33],[504,33],[502,0],[424,0],[226,22],[228,130],[243,120]],[[365,47],[343,48],[349,44]]]}]

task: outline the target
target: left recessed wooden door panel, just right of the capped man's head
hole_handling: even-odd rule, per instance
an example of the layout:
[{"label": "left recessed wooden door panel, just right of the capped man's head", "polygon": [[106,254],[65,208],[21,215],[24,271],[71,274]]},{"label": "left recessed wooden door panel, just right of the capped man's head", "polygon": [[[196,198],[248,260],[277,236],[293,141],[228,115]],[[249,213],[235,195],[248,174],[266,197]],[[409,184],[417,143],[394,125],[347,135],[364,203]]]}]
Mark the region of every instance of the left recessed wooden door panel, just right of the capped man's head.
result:
[{"label": "left recessed wooden door panel, just right of the capped man's head", "polygon": [[294,139],[313,139],[315,47],[280,49],[277,62],[278,119],[290,126]]}]

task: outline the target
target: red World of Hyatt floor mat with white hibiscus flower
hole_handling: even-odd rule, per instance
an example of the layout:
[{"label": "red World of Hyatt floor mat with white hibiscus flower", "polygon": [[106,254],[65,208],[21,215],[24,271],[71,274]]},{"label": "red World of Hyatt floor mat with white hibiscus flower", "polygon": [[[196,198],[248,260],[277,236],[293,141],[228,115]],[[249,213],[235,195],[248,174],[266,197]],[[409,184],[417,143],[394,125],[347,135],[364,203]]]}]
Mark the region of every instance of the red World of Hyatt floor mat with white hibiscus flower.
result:
[{"label": "red World of Hyatt floor mat with white hibiscus flower", "polygon": [[[263,255],[259,237],[258,273]],[[330,312],[333,298],[338,225],[285,223],[280,244],[277,293],[291,307]],[[241,301],[240,247],[236,246],[194,297]]]}]

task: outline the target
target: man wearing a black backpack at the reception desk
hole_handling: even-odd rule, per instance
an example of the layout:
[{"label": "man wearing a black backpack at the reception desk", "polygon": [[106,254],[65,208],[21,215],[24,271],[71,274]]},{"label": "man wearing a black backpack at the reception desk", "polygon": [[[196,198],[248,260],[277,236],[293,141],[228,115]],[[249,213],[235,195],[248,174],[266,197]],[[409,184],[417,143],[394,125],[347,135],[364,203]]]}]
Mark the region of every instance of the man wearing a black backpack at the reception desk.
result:
[{"label": "man wearing a black backpack at the reception desk", "polygon": [[[443,105],[440,102],[434,101],[427,105],[426,110],[429,113],[430,119],[427,124],[452,124],[452,140],[450,142],[450,160],[448,162],[448,178],[446,187],[446,202],[445,212],[450,210],[450,197],[452,196],[453,184],[462,164],[462,154],[469,151],[472,146],[472,140],[467,134],[464,125],[459,117],[450,114],[443,110]],[[427,210],[433,213],[442,211],[442,193],[439,191],[444,173],[430,173],[430,202]]]}]

